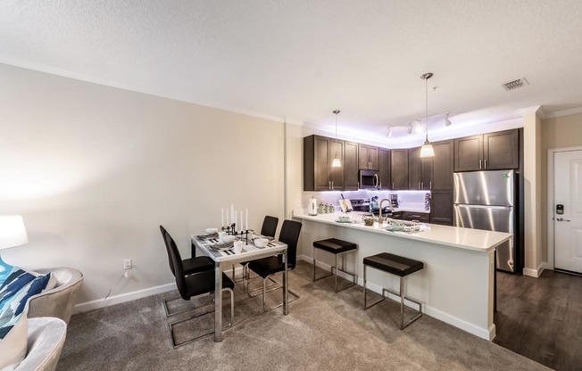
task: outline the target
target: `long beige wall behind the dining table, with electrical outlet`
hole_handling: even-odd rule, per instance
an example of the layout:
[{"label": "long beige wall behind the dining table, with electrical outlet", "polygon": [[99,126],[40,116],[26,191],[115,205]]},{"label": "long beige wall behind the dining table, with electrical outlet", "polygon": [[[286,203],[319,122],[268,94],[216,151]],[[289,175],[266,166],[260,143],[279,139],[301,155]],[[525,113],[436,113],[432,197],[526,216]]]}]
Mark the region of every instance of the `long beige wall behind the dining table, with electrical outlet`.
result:
[{"label": "long beige wall behind the dining table, with electrical outlet", "polygon": [[284,217],[282,123],[3,64],[0,81],[0,215],[29,233],[2,257],[79,268],[80,302],[103,299],[124,259],[113,295],[171,284],[161,224],[186,258],[231,202],[249,227]]}]

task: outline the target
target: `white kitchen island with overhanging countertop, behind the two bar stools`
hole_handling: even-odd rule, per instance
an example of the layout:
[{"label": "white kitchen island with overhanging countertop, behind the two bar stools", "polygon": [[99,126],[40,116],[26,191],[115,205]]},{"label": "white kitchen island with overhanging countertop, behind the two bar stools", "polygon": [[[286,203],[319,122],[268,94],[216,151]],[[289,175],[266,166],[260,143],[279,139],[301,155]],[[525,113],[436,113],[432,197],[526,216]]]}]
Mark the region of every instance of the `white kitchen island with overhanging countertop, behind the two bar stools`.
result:
[{"label": "white kitchen island with overhanging countertop, behind the two bar stools", "polygon": [[[356,222],[337,223],[340,216],[350,216]],[[364,257],[390,252],[420,260],[425,268],[407,278],[406,295],[422,301],[423,312],[430,317],[489,341],[495,337],[495,247],[511,234],[433,224],[420,232],[392,232],[378,223],[365,226],[360,213],[310,216],[300,211],[293,217],[303,221],[298,252],[303,260],[312,261],[314,241],[335,237],[357,243],[358,251],[347,257],[347,268],[356,272],[360,285]],[[328,268],[332,257],[318,255],[318,266],[320,262],[322,268]],[[367,285],[377,293],[382,287],[398,291],[398,278],[370,269]]]}]

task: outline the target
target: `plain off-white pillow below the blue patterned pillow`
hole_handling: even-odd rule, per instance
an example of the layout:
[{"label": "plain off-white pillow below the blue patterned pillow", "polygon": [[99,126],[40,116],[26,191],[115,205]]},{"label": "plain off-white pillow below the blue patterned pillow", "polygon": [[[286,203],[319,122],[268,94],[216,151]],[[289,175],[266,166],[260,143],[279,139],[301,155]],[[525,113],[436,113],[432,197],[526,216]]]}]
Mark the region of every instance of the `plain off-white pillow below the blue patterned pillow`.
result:
[{"label": "plain off-white pillow below the blue patterned pillow", "polygon": [[26,358],[28,333],[29,318],[24,314],[0,340],[0,370],[12,371]]}]

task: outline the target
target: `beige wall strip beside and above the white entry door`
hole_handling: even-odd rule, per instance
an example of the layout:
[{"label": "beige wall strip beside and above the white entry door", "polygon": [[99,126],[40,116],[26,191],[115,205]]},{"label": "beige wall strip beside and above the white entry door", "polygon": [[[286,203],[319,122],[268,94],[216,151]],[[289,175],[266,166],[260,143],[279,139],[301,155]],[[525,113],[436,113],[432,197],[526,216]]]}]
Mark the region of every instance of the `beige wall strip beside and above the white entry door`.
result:
[{"label": "beige wall strip beside and above the white entry door", "polygon": [[[582,113],[542,120],[542,220],[543,241],[547,246],[547,185],[548,185],[548,150],[555,148],[582,146]],[[548,261],[547,249],[544,249],[545,261]]]}]

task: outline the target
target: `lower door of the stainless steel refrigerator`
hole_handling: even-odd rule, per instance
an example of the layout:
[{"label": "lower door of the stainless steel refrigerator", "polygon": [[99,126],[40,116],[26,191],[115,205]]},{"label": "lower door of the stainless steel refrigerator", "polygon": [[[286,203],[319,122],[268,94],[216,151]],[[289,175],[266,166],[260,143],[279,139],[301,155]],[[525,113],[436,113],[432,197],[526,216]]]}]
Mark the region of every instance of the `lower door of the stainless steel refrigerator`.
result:
[{"label": "lower door of the stainless steel refrigerator", "polygon": [[[511,206],[454,205],[454,226],[513,233]],[[497,247],[498,269],[515,272],[515,236]]]}]

